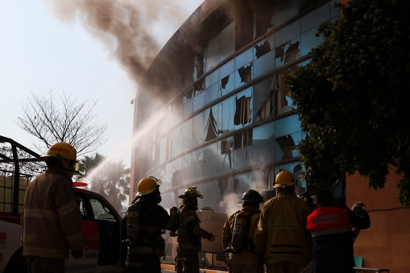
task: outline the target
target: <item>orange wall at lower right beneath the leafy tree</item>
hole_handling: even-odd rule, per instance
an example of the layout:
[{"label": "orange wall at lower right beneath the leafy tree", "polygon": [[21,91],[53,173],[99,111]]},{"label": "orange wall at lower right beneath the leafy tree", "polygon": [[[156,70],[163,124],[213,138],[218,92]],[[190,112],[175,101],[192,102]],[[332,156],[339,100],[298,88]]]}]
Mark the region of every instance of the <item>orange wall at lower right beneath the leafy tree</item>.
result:
[{"label": "orange wall at lower right beneath the leafy tree", "polygon": [[370,228],[360,232],[354,246],[355,255],[363,256],[362,267],[410,272],[410,209],[399,203],[399,180],[390,170],[385,188],[376,191],[359,174],[346,178],[346,204],[362,201],[370,216]]}]

